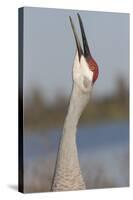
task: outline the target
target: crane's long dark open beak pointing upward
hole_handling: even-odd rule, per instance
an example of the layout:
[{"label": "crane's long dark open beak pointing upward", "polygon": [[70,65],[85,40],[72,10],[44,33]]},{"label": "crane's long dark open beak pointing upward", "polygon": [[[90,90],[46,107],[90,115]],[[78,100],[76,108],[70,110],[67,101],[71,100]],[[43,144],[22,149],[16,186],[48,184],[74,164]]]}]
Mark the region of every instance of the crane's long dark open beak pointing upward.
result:
[{"label": "crane's long dark open beak pointing upward", "polygon": [[72,30],[73,30],[73,33],[74,33],[74,38],[75,38],[76,46],[77,46],[77,49],[78,49],[79,59],[81,58],[81,55],[84,55],[84,57],[86,59],[90,59],[91,58],[91,53],[90,53],[89,45],[88,45],[88,42],[87,42],[87,39],[86,39],[83,22],[82,22],[82,19],[81,19],[80,15],[79,14],[77,14],[77,15],[78,15],[78,20],[79,20],[79,25],[80,25],[80,30],[81,30],[81,35],[82,35],[82,42],[83,42],[83,49],[84,50],[82,50],[82,47],[81,47],[80,41],[78,39],[78,36],[77,36],[77,33],[76,33],[76,29],[74,27],[72,18],[69,17],[69,19],[70,19],[70,23],[71,23]]}]

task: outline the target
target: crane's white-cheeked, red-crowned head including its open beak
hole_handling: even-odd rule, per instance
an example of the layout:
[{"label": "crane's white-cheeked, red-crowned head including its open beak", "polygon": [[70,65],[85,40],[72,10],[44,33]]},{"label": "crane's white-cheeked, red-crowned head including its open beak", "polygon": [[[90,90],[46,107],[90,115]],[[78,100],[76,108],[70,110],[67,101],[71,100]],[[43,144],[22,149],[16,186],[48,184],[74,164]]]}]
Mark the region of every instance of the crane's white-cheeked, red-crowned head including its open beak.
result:
[{"label": "crane's white-cheeked, red-crowned head including its open beak", "polygon": [[90,53],[82,19],[79,14],[77,15],[81,29],[83,49],[78,39],[72,18],[69,17],[77,46],[77,54],[75,57],[74,68],[73,68],[73,79],[83,86],[82,88],[84,89],[84,91],[87,91],[87,89],[90,88],[89,86],[92,86],[97,80],[99,70],[96,61],[94,60],[94,58]]}]

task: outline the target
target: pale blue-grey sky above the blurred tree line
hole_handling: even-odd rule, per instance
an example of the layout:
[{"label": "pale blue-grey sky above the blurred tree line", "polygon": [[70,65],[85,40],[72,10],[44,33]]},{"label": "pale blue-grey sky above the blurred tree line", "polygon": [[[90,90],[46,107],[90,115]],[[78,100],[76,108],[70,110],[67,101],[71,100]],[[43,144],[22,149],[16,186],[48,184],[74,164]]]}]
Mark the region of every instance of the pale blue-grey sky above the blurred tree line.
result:
[{"label": "pale blue-grey sky above the blurred tree line", "polygon": [[100,75],[93,94],[111,94],[118,76],[124,77],[128,82],[128,14],[26,7],[24,95],[27,96],[34,87],[40,87],[49,100],[59,91],[70,95],[76,45],[69,15],[81,38],[77,12],[82,17],[92,56],[99,65]]}]

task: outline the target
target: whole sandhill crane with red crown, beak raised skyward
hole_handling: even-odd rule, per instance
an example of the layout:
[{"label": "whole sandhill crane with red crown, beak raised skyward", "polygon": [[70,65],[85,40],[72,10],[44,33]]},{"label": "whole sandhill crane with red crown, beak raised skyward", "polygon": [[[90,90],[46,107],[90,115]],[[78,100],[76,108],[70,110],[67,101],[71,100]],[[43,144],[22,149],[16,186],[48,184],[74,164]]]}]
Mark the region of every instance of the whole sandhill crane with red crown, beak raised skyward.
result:
[{"label": "whole sandhill crane with red crown, beak raised skyward", "polygon": [[84,51],[80,45],[72,18],[69,17],[76,41],[77,53],[73,65],[72,93],[61,135],[52,191],[82,190],[86,188],[78,159],[76,130],[78,120],[90,99],[93,85],[98,78],[98,65],[91,56],[82,19],[79,14],[77,15]]}]

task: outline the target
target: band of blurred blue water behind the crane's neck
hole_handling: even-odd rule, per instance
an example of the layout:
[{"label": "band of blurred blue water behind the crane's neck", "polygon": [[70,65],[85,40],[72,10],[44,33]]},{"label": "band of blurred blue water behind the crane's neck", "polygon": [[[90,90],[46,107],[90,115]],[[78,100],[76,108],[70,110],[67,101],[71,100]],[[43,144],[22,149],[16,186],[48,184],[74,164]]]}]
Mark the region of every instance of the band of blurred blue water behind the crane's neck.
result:
[{"label": "band of blurred blue water behind the crane's neck", "polygon": [[[24,133],[24,159],[33,160],[47,157],[49,153],[57,152],[61,129],[47,131],[32,131]],[[94,126],[81,126],[77,132],[79,153],[90,152],[114,146],[128,146],[128,121],[101,123]]]}]

